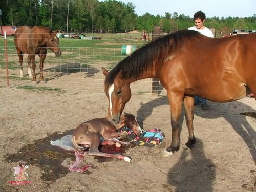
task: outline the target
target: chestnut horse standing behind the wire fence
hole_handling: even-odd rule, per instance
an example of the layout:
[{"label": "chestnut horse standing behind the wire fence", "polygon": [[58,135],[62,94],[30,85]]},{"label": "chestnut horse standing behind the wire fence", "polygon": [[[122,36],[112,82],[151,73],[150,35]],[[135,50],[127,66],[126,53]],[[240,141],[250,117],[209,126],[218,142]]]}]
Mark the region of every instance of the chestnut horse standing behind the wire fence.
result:
[{"label": "chestnut horse standing behind the wire fence", "polygon": [[46,27],[40,26],[21,26],[14,34],[14,44],[18,53],[19,64],[20,64],[20,77],[23,77],[23,54],[28,54],[28,73],[29,77],[32,77],[30,70],[30,62],[32,61],[33,69],[33,82],[36,82],[36,64],[35,55],[40,57],[40,80],[44,81],[44,75],[42,74],[42,69],[44,68],[44,60],[46,58],[47,49],[52,50],[56,57],[61,55],[61,50],[59,48],[59,39],[56,33],[59,31],[52,31]]}]

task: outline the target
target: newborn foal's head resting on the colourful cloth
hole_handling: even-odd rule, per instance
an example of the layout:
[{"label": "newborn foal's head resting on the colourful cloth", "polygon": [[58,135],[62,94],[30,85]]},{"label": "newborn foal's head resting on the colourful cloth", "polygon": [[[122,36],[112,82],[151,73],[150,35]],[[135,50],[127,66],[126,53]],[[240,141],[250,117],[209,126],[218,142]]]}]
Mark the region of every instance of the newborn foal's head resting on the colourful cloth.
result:
[{"label": "newborn foal's head resting on the colourful cloth", "polygon": [[125,113],[121,115],[120,117],[120,123],[119,125],[121,127],[128,127],[130,130],[132,130],[137,136],[140,136],[142,134],[142,129],[136,119],[136,117],[132,114]]}]

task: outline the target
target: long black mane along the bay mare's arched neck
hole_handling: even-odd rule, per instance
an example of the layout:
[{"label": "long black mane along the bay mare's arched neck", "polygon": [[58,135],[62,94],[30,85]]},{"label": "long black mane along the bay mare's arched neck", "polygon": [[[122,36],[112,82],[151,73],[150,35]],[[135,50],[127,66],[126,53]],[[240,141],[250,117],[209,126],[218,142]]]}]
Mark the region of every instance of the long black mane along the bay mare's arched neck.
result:
[{"label": "long black mane along the bay mare's arched neck", "polygon": [[199,37],[199,32],[193,30],[181,30],[152,41],[130,56],[121,60],[106,76],[105,87],[113,84],[116,75],[121,72],[124,79],[138,79],[150,69],[154,63],[163,63],[166,57],[175,51],[175,48],[184,40],[191,40]]}]

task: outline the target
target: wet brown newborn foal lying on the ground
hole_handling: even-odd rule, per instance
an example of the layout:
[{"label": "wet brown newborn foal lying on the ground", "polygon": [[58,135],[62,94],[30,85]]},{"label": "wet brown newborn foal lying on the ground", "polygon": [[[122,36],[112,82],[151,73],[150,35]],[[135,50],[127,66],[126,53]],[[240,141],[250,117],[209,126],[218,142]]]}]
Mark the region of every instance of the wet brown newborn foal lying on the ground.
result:
[{"label": "wet brown newborn foal lying on the ground", "polygon": [[[130,162],[131,159],[129,157],[120,154],[103,153],[98,149],[100,144],[115,144],[117,147],[120,147],[121,144],[130,144],[129,142],[119,141],[119,139],[124,139],[127,137],[125,132],[116,132],[118,129],[124,126],[131,129],[138,136],[140,136],[142,133],[135,116],[128,113],[121,115],[120,123],[117,126],[115,126],[107,118],[96,118],[80,124],[73,134],[73,143],[76,147],[76,160],[69,166],[69,170],[71,172],[83,173],[86,172],[87,169],[91,168],[92,165],[78,167],[86,153],[93,156],[112,157]],[[104,139],[103,141],[101,140],[102,137]],[[84,151],[86,148],[89,148],[89,150]]]}]

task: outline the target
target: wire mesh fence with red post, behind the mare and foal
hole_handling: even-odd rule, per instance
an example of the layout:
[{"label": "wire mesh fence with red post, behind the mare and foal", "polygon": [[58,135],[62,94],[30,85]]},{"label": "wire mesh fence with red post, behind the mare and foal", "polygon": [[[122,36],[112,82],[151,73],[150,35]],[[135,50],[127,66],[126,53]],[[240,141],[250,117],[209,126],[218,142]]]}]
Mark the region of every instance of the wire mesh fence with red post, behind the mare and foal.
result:
[{"label": "wire mesh fence with red post, behind the mare and foal", "polygon": [[[40,82],[39,57],[36,56],[37,83],[32,83],[32,78],[28,74],[28,55],[24,54],[24,77],[20,77],[19,58],[15,46],[12,46],[12,44],[13,42],[8,42],[6,48],[4,45],[0,47],[1,87],[8,85],[7,78],[9,78],[10,87],[30,86],[73,92],[99,92],[103,91],[105,79],[101,68],[111,70],[119,61],[127,57],[122,53],[121,46],[119,48],[61,47],[62,55],[60,57],[56,57],[52,51],[48,50],[43,68],[46,82]],[[5,54],[5,49],[7,54]],[[9,77],[7,76],[7,64]],[[137,93],[152,93],[152,79],[136,81],[131,84],[131,89]],[[159,90],[159,93],[163,90],[160,85],[153,89]],[[164,94],[164,90],[162,94]]]}]

